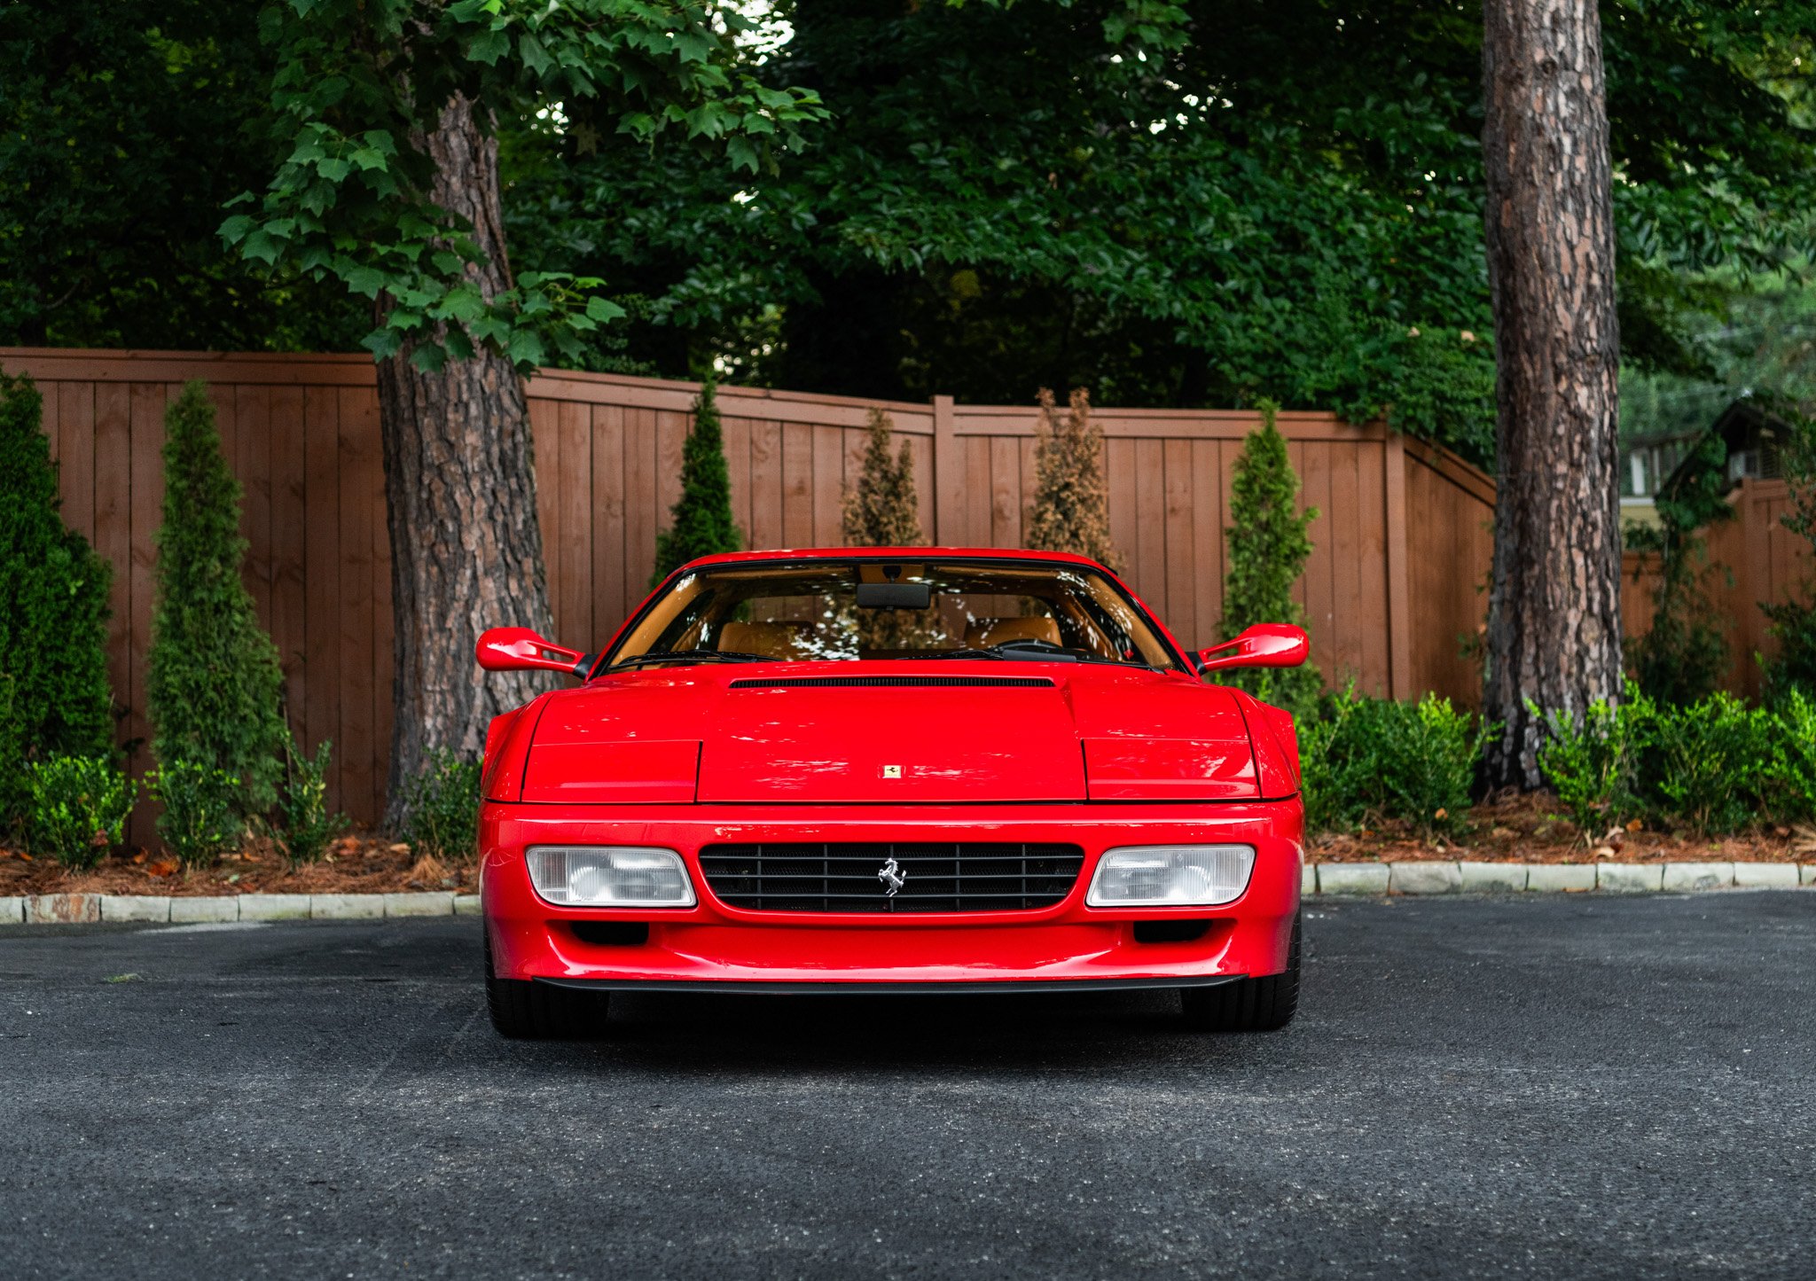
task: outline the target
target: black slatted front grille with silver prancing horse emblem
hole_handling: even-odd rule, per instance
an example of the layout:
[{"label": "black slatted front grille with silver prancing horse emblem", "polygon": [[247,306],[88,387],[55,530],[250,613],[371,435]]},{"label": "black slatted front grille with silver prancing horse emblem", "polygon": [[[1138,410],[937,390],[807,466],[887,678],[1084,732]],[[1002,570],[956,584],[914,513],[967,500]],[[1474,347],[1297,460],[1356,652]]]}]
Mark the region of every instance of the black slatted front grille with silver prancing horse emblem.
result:
[{"label": "black slatted front grille with silver prancing horse emblem", "polygon": [[[895,860],[901,889],[883,871]],[[706,846],[719,902],[777,913],[1001,913],[1051,907],[1079,880],[1077,846],[852,842]]]}]

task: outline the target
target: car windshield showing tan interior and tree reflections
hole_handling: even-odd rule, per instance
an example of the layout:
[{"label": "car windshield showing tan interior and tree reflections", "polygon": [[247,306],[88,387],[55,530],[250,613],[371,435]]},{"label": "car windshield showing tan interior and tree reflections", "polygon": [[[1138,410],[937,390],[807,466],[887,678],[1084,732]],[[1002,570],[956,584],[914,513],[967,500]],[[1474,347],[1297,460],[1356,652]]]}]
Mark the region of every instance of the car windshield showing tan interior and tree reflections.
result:
[{"label": "car windshield showing tan interior and tree reflections", "polygon": [[1106,575],[1039,561],[754,561],[676,579],[607,668],[1013,659],[1179,668]]}]

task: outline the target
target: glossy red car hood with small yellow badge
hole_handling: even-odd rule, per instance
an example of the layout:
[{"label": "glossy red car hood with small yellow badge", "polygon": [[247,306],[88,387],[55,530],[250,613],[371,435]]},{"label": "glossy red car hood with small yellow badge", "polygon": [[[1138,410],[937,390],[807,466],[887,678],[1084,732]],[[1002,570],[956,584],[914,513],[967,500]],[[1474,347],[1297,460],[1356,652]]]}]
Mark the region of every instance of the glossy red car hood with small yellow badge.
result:
[{"label": "glossy red car hood with small yellow badge", "polygon": [[1262,791],[1249,726],[1228,689],[1057,662],[725,664],[607,677],[545,699],[523,777],[528,802],[1253,800]]}]

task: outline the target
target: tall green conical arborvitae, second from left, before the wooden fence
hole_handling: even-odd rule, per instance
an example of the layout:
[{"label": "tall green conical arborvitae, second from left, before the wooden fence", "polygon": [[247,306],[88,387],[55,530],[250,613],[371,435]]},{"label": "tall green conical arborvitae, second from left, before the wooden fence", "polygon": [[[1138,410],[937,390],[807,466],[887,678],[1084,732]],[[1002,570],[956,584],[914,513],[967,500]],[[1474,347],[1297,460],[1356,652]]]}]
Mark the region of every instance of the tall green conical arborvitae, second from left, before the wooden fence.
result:
[{"label": "tall green conical arborvitae, second from left, before the wooden fence", "polygon": [[165,414],[163,524],[145,702],[151,753],[240,780],[240,815],[276,800],[283,769],[283,673],[240,581],[240,483],[222,457],[207,388]]}]

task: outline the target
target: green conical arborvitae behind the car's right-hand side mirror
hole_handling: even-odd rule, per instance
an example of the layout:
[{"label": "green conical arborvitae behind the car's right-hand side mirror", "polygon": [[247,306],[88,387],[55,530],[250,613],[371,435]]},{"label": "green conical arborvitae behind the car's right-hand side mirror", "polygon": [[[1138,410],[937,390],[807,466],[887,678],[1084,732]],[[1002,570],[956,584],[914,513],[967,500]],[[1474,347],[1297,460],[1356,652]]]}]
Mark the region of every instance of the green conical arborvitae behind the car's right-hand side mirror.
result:
[{"label": "green conical arborvitae behind the car's right-hand side mirror", "polygon": [[[1286,437],[1275,426],[1280,406],[1260,401],[1258,408],[1260,426],[1249,432],[1229,488],[1224,640],[1257,622],[1306,626],[1306,611],[1293,601],[1293,584],[1306,572],[1311,555],[1306,528],[1318,519],[1318,512],[1298,510],[1298,475],[1288,457]],[[1237,668],[1217,679],[1295,713],[1309,711],[1324,684],[1309,662],[1302,668]]]}]

